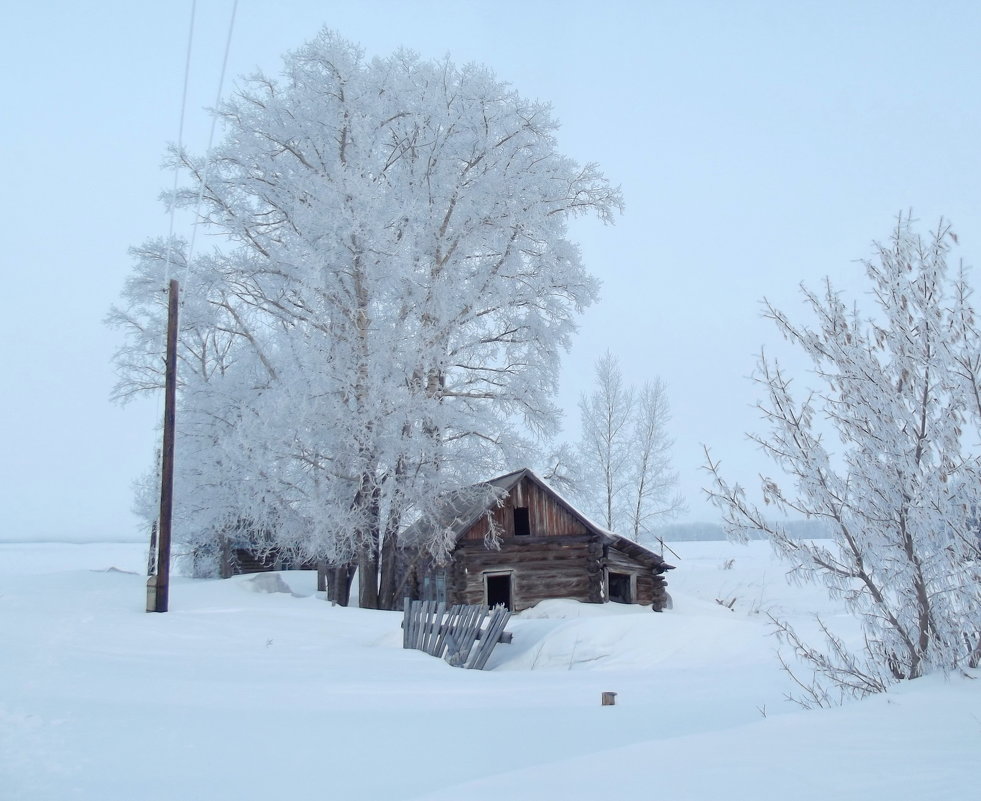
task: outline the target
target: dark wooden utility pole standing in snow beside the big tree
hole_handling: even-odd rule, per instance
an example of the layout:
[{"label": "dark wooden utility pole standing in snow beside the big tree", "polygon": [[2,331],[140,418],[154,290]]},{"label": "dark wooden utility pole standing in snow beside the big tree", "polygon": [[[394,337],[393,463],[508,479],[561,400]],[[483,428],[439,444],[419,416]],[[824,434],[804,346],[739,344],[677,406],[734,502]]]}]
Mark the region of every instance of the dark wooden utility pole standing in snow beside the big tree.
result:
[{"label": "dark wooden utility pole standing in snow beside the big tree", "polygon": [[170,598],[170,523],[174,507],[174,428],[177,402],[177,281],[171,280],[167,305],[167,357],[164,377],[164,436],[160,464],[160,519],[157,574],[146,583],[146,611],[166,612]]}]

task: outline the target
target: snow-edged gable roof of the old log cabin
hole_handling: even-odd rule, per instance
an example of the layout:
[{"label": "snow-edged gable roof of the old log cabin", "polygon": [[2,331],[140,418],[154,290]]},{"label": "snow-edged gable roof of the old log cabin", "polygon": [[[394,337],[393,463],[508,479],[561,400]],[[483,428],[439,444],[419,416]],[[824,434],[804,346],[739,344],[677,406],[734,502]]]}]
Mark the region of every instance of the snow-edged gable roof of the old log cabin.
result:
[{"label": "snow-edged gable roof of the old log cabin", "polygon": [[582,523],[591,534],[599,537],[604,545],[611,545],[634,559],[649,561],[660,566],[662,570],[674,569],[674,565],[665,564],[664,559],[649,548],[596,525],[561,494],[546,484],[545,480],[534,470],[527,467],[446,493],[438,500],[436,508],[409,526],[405,534],[411,538],[413,534],[422,534],[425,529],[442,527],[452,532],[454,539],[459,540],[481,517],[487,514],[492,504],[500,504],[525,478],[537,484],[564,506],[569,514]]}]

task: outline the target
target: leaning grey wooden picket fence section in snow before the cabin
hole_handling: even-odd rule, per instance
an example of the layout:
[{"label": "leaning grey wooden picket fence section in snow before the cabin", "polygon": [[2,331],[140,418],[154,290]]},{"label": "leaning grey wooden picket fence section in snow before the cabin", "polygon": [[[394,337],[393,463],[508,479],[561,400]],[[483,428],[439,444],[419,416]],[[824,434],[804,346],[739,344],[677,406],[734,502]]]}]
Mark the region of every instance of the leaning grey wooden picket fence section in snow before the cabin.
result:
[{"label": "leaning grey wooden picket fence section in snow before the cabin", "polygon": [[488,617],[486,606],[456,604],[447,609],[442,602],[406,598],[404,611],[402,647],[442,656],[453,667],[483,670],[494,646],[511,642],[504,631],[511,612],[503,606],[491,609]]}]

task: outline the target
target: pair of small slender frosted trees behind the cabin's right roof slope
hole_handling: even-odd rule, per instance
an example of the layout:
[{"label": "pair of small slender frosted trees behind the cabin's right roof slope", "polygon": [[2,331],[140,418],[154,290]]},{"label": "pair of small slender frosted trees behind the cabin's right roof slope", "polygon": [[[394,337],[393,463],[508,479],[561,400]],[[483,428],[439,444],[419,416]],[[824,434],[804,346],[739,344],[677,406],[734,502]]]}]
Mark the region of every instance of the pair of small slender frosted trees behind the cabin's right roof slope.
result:
[{"label": "pair of small slender frosted trees behind the cabin's right roof slope", "polygon": [[659,378],[637,392],[607,351],[596,362],[593,391],[579,400],[579,415],[575,492],[606,528],[638,539],[683,508],[670,463],[667,391]]}]

